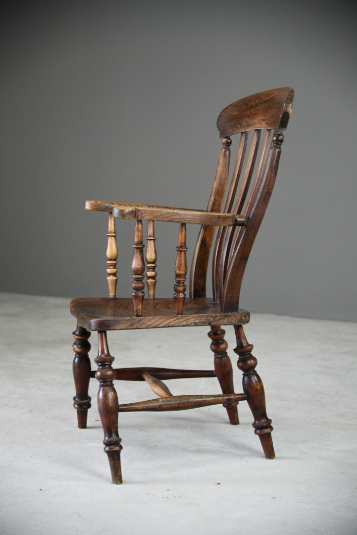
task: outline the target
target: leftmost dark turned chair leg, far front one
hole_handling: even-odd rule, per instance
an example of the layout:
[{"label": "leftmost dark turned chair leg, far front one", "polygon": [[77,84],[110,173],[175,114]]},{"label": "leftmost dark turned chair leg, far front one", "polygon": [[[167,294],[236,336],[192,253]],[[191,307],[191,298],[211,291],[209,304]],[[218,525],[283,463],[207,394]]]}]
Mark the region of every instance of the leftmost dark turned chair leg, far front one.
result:
[{"label": "leftmost dark turned chair leg, far front one", "polygon": [[90,380],[90,360],[88,356],[90,343],[88,338],[90,337],[90,332],[84,327],[77,325],[76,330],[72,334],[74,337],[72,347],[75,353],[73,360],[73,378],[75,384],[73,407],[77,409],[78,427],[80,429],[86,429],[87,414],[90,408],[90,397],[88,395]]}]

